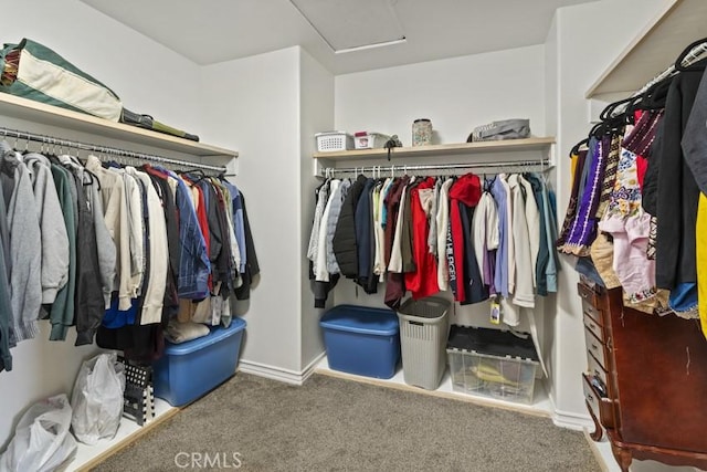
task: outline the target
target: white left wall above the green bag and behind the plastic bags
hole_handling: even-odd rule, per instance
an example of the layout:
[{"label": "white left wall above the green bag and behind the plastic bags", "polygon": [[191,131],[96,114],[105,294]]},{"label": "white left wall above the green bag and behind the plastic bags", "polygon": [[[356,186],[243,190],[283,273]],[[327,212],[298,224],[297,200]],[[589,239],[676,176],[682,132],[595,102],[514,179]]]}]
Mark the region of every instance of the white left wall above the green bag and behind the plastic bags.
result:
[{"label": "white left wall above the green bag and behind the plastic bags", "polygon": [[[191,133],[202,133],[197,106],[201,83],[194,64],[77,0],[9,3],[3,2],[8,12],[3,42],[29,38],[43,43],[106,83],[127,107]],[[91,136],[4,116],[0,116],[0,126],[96,141]],[[41,322],[41,329],[38,338],[12,349],[14,369],[0,374],[0,450],[24,409],[50,395],[71,392],[81,361],[96,350],[95,346],[74,347],[73,329],[64,343],[48,340],[48,322]]]}]

